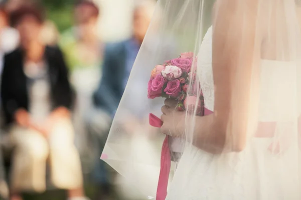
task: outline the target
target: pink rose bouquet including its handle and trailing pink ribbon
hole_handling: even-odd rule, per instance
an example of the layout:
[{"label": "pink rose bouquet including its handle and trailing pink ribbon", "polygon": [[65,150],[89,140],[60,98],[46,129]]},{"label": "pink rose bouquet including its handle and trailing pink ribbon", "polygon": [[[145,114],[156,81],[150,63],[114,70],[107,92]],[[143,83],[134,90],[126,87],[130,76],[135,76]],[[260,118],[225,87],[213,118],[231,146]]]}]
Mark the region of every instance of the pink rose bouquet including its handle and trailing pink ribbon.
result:
[{"label": "pink rose bouquet including its handle and trailing pink ribbon", "polygon": [[[197,57],[194,56],[193,52],[185,52],[181,53],[178,58],[167,60],[164,64],[155,66],[148,81],[147,97],[152,99],[156,97],[174,98],[178,102],[176,108],[179,111],[187,110],[189,113],[194,113],[196,110],[196,114],[203,114],[204,101],[202,94],[198,94],[200,85],[199,81],[196,80],[196,70],[192,70],[192,65],[196,62]],[[149,114],[150,125],[161,127],[162,123],[159,117],[152,113]],[[169,139],[171,140],[169,141]],[[157,199],[165,199],[167,195],[171,153],[179,152],[179,149],[181,149],[181,140],[169,138],[167,135],[161,151]]]}]

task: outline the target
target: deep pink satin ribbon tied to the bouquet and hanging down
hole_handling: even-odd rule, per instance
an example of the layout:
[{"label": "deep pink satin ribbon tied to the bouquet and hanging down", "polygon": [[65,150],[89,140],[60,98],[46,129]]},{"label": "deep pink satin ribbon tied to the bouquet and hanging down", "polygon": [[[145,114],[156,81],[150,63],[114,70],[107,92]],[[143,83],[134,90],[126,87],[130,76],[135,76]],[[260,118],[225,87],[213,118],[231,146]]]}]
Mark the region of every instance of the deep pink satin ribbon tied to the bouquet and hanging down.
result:
[{"label": "deep pink satin ribbon tied to the bouquet and hanging down", "polygon": [[[211,110],[205,108],[204,115],[213,113]],[[149,114],[149,124],[154,127],[161,127],[163,122],[161,119],[154,114]],[[160,164],[160,174],[157,186],[157,200],[164,200],[167,196],[167,186],[169,180],[169,174],[171,171],[171,153],[168,144],[168,135],[165,137],[162,150],[161,150],[161,164]]]}]

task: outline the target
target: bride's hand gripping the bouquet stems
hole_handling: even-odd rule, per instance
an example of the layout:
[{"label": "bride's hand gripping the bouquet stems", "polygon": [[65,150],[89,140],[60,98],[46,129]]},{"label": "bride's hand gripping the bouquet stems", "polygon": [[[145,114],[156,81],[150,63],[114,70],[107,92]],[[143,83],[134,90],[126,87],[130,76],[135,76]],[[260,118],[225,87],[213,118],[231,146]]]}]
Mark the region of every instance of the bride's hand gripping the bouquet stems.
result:
[{"label": "bride's hand gripping the bouquet stems", "polygon": [[177,100],[175,99],[167,98],[164,103],[165,105],[161,108],[163,112],[161,115],[161,120],[163,121],[161,132],[173,137],[182,136],[185,130],[186,112],[176,109]]}]

